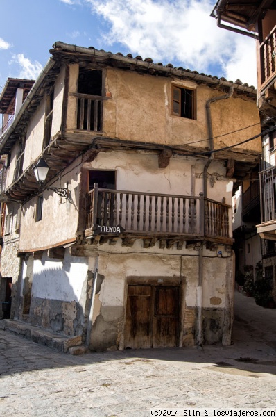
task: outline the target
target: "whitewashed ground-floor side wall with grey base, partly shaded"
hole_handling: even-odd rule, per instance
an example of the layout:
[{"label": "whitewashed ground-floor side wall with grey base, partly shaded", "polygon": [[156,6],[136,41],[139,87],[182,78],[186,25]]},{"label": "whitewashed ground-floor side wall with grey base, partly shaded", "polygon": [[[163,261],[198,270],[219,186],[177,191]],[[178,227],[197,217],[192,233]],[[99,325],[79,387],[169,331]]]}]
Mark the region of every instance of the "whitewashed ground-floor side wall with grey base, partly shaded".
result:
[{"label": "whitewashed ground-floor side wall with grey base, partly shaded", "polygon": [[23,267],[21,318],[33,325],[83,335],[87,329],[93,274],[86,259],[29,258]]}]

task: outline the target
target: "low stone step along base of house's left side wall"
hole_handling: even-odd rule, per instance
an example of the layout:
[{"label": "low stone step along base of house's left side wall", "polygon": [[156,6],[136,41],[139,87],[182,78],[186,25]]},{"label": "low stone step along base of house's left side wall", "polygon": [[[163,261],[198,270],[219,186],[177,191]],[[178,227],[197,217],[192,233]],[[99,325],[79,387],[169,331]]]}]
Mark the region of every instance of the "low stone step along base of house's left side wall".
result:
[{"label": "low stone step along base of house's left side wall", "polygon": [[82,336],[66,336],[65,334],[52,332],[49,329],[30,325],[21,320],[0,320],[0,328],[18,334],[24,338],[31,339],[40,345],[52,347],[60,352],[71,354],[85,353],[86,348],[82,346]]}]

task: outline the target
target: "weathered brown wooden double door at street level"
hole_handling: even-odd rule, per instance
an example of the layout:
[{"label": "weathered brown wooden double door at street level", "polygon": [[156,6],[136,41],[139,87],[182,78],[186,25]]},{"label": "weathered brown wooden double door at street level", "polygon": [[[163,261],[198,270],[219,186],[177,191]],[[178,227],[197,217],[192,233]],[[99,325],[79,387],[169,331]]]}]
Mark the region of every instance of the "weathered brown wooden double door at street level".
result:
[{"label": "weathered brown wooden double door at street level", "polygon": [[178,286],[128,286],[125,348],[178,345]]}]

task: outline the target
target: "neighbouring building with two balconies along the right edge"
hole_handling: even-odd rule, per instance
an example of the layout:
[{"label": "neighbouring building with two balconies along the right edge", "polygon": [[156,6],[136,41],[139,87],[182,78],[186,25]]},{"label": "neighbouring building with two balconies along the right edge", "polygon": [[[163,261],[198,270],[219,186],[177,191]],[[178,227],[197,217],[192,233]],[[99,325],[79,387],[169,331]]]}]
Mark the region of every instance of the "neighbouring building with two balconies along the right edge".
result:
[{"label": "neighbouring building with two balconies along the right edge", "polygon": [[255,224],[262,238],[263,276],[269,281],[276,300],[276,1],[241,4],[235,0],[219,0],[212,16],[219,27],[249,36],[257,44],[262,161],[259,168],[261,216]]}]

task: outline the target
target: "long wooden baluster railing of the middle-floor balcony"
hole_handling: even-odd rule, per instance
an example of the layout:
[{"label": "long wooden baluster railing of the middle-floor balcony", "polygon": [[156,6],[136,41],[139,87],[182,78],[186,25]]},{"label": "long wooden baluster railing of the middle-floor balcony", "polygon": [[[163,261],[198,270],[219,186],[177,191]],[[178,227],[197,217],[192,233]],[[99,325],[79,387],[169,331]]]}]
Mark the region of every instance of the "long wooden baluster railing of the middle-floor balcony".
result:
[{"label": "long wooden baluster railing of the middle-floor balcony", "polygon": [[[199,197],[98,188],[87,194],[86,230],[120,225],[124,233],[229,238],[230,206]],[[103,229],[103,228],[100,228]]]}]

